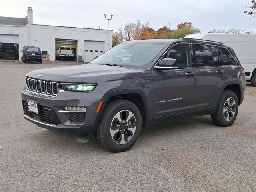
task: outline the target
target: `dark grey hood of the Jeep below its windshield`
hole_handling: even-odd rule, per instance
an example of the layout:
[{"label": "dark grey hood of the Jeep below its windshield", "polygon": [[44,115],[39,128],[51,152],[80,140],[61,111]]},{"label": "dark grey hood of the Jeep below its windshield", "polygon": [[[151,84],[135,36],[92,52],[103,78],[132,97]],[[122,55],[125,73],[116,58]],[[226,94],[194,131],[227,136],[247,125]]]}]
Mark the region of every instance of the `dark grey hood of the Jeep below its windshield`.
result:
[{"label": "dark grey hood of the Jeep below its windshield", "polygon": [[146,76],[146,74],[148,73],[146,73],[145,70],[140,69],[97,64],[82,64],[34,70],[29,72],[26,76],[53,82],[98,83],[100,81],[142,77]]}]

